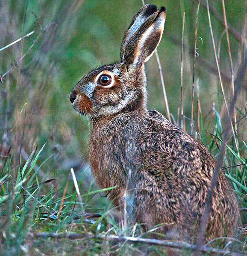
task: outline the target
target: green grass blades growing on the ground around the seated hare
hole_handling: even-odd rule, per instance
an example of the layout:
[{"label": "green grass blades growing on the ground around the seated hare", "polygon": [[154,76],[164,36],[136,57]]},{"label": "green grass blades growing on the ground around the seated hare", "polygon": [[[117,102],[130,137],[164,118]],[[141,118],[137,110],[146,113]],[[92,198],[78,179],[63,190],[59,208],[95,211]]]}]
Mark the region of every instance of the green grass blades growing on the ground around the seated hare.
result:
[{"label": "green grass blades growing on the ground around the seated hare", "polygon": [[[212,125],[214,133],[210,134],[211,136],[209,134],[204,136],[212,138],[208,148],[217,158],[223,129],[218,112],[215,112]],[[243,209],[247,208],[247,197],[245,196],[247,193],[247,156],[244,155],[247,146],[244,141],[238,141],[238,143],[239,151],[236,152],[234,142],[230,139],[226,146],[223,169],[238,197],[239,207]],[[39,171],[45,170],[46,166],[50,164],[49,159],[48,161],[41,160],[41,155],[45,154],[46,150],[46,144],[41,149],[36,151],[34,149],[27,161],[21,158],[20,164],[17,166],[13,165],[14,161],[11,156],[5,158],[0,179],[0,250],[3,255],[27,252],[29,255],[63,255],[64,253],[103,255],[110,252],[133,255],[150,252],[165,255],[167,253],[167,249],[160,246],[112,242],[97,238],[88,239],[88,236],[105,234],[144,238],[147,235],[141,233],[138,225],[127,226],[123,229],[115,222],[114,208],[106,198],[102,197],[107,193],[107,189],[97,189],[93,180],[85,188],[85,176],[88,175],[86,170],[82,170],[82,176],[78,179],[79,188],[85,190],[81,193],[82,203],[78,199],[73,179],[68,173],[64,175],[65,184],[56,182],[55,179],[41,178]],[[236,167],[236,165],[239,166]],[[85,215],[84,217],[84,211],[87,214],[97,215],[91,215],[91,217]],[[242,223],[246,223],[246,211],[241,211],[241,220]],[[158,230],[153,232],[159,232]],[[35,238],[32,236],[33,232],[76,232],[84,234],[84,238],[79,240]],[[244,246],[247,244],[246,226],[239,226],[239,232],[237,241],[229,240],[231,243],[224,243],[224,239],[219,239],[212,241],[210,246],[246,253],[247,247]]]}]

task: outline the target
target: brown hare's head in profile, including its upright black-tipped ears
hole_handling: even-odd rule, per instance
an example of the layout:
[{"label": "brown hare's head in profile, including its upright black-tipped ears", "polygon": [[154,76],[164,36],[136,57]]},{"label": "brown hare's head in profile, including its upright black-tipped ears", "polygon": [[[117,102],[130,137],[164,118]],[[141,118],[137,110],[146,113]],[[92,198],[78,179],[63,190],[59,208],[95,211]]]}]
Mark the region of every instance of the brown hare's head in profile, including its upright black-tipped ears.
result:
[{"label": "brown hare's head in profile, including its upright black-tipped ears", "polygon": [[94,69],[76,84],[70,94],[74,109],[82,114],[108,116],[144,108],[144,63],[159,45],[164,23],[165,7],[143,6],[124,33],[121,61]]}]

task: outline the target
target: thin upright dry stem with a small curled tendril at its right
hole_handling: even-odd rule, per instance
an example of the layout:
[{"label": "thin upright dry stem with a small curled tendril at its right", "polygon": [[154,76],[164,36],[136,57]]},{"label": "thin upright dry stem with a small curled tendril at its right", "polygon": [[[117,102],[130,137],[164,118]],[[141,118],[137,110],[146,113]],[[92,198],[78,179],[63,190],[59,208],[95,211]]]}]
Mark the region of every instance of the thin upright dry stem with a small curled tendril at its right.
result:
[{"label": "thin upright dry stem with a small curled tendril at its right", "polygon": [[194,40],[194,60],[193,60],[193,77],[192,77],[192,95],[191,95],[191,134],[194,130],[194,93],[195,93],[195,72],[196,72],[196,57],[197,57],[197,22],[200,8],[200,0],[197,6],[196,22],[195,22],[195,40]]}]

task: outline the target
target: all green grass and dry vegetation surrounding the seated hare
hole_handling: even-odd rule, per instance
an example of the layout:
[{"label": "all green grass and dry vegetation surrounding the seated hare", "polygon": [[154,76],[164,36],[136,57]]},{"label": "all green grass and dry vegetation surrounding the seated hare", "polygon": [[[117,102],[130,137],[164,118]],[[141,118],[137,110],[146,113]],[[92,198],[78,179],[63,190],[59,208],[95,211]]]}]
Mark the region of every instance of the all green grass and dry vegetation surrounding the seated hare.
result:
[{"label": "all green grass and dry vegetation surrounding the seated hare", "polygon": [[[209,1],[222,84],[207,1],[200,1],[197,22],[197,0],[150,2],[167,9],[158,53],[171,121],[201,140],[216,159],[221,153],[222,134],[228,131],[222,169],[238,198],[242,223],[238,238],[218,238],[208,246],[245,254],[246,1],[226,1],[227,31],[222,1]],[[142,233],[138,224],[123,227],[116,223],[115,210],[104,196],[111,188],[99,190],[88,167],[90,122],[76,114],[68,99],[84,74],[119,60],[124,31],[141,4],[141,0],[0,1],[0,255],[169,253],[170,247],[121,238],[147,238],[148,234]],[[229,45],[238,93],[235,111],[231,111],[234,136],[224,118],[226,103],[231,103],[229,109],[234,105]],[[155,55],[146,68],[148,107],[166,115]],[[241,76],[243,70],[245,75]],[[74,239],[77,237],[71,232],[80,239]],[[159,232],[159,227],[150,232]],[[54,238],[55,233],[67,235]],[[179,248],[185,255],[194,250],[185,244]]]}]

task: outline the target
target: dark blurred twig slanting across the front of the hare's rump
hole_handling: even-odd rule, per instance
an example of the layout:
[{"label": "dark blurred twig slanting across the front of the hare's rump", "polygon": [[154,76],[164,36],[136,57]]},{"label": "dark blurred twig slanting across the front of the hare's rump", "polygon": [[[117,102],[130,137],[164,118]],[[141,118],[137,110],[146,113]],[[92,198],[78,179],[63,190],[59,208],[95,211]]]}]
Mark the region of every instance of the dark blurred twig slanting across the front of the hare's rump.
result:
[{"label": "dark blurred twig slanting across the front of the hare's rump", "polygon": [[[208,0],[207,0],[207,3],[208,3]],[[208,9],[208,12],[209,12],[209,9]],[[218,180],[219,171],[220,171],[221,166],[223,164],[223,158],[224,158],[225,151],[226,151],[227,134],[228,134],[228,131],[231,128],[230,116],[233,113],[233,106],[234,106],[234,103],[237,100],[238,93],[239,93],[241,87],[243,86],[242,83],[243,83],[245,73],[246,73],[246,66],[247,66],[247,51],[245,52],[244,61],[243,61],[242,65],[239,69],[238,77],[235,80],[235,92],[234,92],[234,96],[233,96],[231,104],[230,104],[229,115],[226,114],[226,119],[228,119],[228,122],[226,122],[226,129],[225,129],[225,131],[223,131],[220,153],[219,153],[218,160],[217,160],[217,162],[215,164],[215,167],[214,167],[214,174],[213,174],[213,177],[212,177],[212,182],[211,182],[210,188],[208,190],[207,200],[206,200],[206,204],[205,204],[205,208],[204,208],[204,212],[203,212],[203,216],[202,216],[202,220],[201,220],[201,223],[200,223],[199,232],[198,232],[198,236],[197,236],[197,242],[196,242],[197,250],[194,253],[195,256],[199,256],[200,247],[203,244],[204,233],[205,233],[205,230],[206,230],[206,223],[207,223],[209,212],[210,212],[211,206],[212,206],[212,195],[213,195],[213,191],[214,191],[215,185],[216,185],[217,180]]]}]

